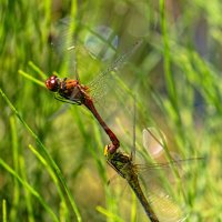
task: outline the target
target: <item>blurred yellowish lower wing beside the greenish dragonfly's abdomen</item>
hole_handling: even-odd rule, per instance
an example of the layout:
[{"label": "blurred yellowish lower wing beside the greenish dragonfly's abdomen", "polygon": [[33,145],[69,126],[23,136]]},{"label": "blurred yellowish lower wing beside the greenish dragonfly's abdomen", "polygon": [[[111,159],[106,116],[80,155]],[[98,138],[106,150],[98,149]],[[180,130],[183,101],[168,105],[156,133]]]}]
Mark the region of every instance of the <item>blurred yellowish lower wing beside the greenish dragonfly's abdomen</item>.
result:
[{"label": "blurred yellowish lower wing beside the greenish dragonfly's abdomen", "polygon": [[[191,162],[190,160],[181,160],[183,163],[185,161]],[[184,188],[189,181],[185,181],[185,178],[175,180],[169,163],[148,168],[145,174],[144,171],[141,173],[138,169],[139,181],[159,221],[184,221],[188,214]],[[189,169],[191,168],[189,167]]]}]

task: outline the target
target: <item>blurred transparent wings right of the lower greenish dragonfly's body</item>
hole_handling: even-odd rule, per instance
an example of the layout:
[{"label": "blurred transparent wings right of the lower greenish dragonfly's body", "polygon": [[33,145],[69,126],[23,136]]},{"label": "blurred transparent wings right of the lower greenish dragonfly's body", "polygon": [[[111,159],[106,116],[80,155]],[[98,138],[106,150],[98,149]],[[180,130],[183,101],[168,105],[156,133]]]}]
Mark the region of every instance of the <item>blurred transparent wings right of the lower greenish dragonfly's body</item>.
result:
[{"label": "blurred transparent wings right of the lower greenish dragonfly's body", "polygon": [[195,169],[204,159],[189,158],[183,160],[171,152],[172,160],[164,162],[165,159],[162,155],[164,155],[164,147],[167,145],[163,132],[155,128],[143,129],[143,147],[155,162],[135,164],[135,169],[159,220],[184,221],[186,218],[183,204],[186,199],[185,185],[189,184],[189,180],[192,181],[192,178],[196,176]]}]

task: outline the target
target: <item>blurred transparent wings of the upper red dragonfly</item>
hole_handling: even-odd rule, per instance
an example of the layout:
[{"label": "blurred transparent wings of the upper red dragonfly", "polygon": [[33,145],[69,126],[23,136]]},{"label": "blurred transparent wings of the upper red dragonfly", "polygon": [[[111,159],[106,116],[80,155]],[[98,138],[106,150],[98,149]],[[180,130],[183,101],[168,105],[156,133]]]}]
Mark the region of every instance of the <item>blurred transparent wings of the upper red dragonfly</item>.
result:
[{"label": "blurred transparent wings of the upper red dragonfly", "polygon": [[[74,33],[77,27],[71,19],[61,19],[52,28],[50,42],[62,62],[61,71],[65,77],[74,74],[79,80],[85,73],[98,71],[98,62],[110,60],[115,54],[119,38],[110,27],[102,24],[97,27],[81,24],[78,27],[80,30],[77,37]],[[107,70],[100,72],[89,83],[94,101],[102,99],[113,87],[109,84],[113,80],[112,74],[124,65],[141,43],[142,40],[137,41],[130,50],[118,57]]]}]

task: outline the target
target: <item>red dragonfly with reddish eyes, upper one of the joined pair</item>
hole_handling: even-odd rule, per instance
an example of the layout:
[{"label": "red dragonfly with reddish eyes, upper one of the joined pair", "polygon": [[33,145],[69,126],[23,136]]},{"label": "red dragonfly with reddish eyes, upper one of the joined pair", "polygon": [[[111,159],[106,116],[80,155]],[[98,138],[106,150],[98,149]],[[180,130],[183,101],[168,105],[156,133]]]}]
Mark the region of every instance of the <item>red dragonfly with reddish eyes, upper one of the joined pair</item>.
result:
[{"label": "red dragonfly with reddish eyes, upper one of the joined pair", "polygon": [[92,112],[112,142],[109,147],[110,153],[114,153],[117,151],[120,147],[120,141],[97,111],[93,103],[93,94],[99,94],[99,97],[101,97],[105,80],[109,79],[111,73],[117,71],[128,60],[128,58],[139,48],[141,42],[142,40],[137,41],[129,51],[118,57],[107,70],[101,72],[88,85],[81,84],[79,77],[77,77],[75,80],[68,78],[60,79],[53,74],[46,81],[47,88],[50,91],[56,92],[56,99],[72,104],[83,104]]}]

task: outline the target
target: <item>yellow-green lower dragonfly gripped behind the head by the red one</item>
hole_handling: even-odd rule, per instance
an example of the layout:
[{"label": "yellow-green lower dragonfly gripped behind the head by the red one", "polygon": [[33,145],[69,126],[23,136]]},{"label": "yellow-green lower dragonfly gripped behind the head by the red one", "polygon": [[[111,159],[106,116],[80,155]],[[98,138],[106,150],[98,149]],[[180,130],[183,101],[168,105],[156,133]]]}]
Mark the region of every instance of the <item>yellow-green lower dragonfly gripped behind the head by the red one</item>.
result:
[{"label": "yellow-green lower dragonfly gripped behind the head by the red one", "polygon": [[[148,137],[148,138],[145,138]],[[144,139],[145,138],[145,139]],[[153,133],[153,128],[145,128],[143,130],[143,144],[148,142],[148,140],[157,148],[157,150],[160,150],[160,145],[163,144],[161,141],[157,141],[158,138]],[[163,148],[162,148],[163,149]],[[127,180],[130,188],[135,193],[135,196],[140,201],[142,208],[145,211],[147,216],[151,222],[159,222],[159,221],[184,221],[186,215],[182,212],[179,205],[176,205],[168,194],[164,194],[163,196],[159,198],[159,189],[155,190],[153,186],[158,186],[158,184],[154,182],[158,180],[157,176],[157,170],[163,171],[163,170],[171,170],[171,168],[176,168],[176,170],[181,170],[181,167],[183,164],[192,163],[194,161],[202,160],[202,158],[190,158],[190,159],[172,159],[169,162],[155,162],[151,163],[149,165],[144,164],[135,164],[134,163],[134,155],[133,152],[131,154],[127,154],[124,152],[121,152],[118,150],[115,153],[109,152],[109,145],[105,145],[104,148],[104,157],[107,159],[108,164],[114,169],[114,171],[118,172],[118,174]],[[147,184],[148,189],[150,189],[150,194],[154,190],[154,194],[152,193],[151,196],[145,195],[142,189],[142,181],[141,181],[141,173],[144,173],[144,171],[149,172],[150,176],[150,184]],[[152,173],[151,173],[152,172]],[[181,172],[182,174],[182,172]],[[152,178],[153,176],[153,178]],[[181,175],[179,175],[181,176]],[[170,180],[170,176],[169,176]],[[153,181],[154,183],[151,183]],[[159,184],[160,186],[161,184]],[[163,190],[161,188],[161,190]],[[148,190],[149,191],[149,190]],[[162,205],[161,205],[162,204]],[[162,209],[158,209],[158,205],[161,205]]]}]

